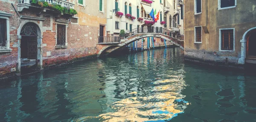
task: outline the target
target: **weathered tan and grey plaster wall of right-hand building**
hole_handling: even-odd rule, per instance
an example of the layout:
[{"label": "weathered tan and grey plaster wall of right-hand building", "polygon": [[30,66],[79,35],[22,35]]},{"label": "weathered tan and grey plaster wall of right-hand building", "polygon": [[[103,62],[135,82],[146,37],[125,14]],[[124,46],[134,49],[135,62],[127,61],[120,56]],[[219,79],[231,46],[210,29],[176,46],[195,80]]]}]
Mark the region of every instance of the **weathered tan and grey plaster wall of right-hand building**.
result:
[{"label": "weathered tan and grey plaster wall of right-hand building", "polygon": [[[218,10],[218,0],[202,0],[202,14],[194,14],[194,0],[185,4],[185,57],[197,60],[229,62],[237,64],[241,57],[240,40],[245,31],[256,26],[256,1],[237,0],[236,8]],[[209,34],[202,28],[202,43],[194,43],[194,27],[207,26]],[[219,51],[219,29],[235,28],[235,51]]]}]

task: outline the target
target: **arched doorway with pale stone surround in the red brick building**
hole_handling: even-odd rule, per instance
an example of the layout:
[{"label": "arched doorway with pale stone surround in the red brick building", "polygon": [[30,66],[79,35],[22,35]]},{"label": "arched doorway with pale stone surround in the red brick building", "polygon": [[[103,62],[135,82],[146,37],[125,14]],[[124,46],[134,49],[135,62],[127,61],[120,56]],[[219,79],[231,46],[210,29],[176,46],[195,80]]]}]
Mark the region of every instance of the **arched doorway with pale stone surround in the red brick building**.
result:
[{"label": "arched doorway with pale stone surround in the red brick building", "polygon": [[33,20],[25,20],[17,31],[19,42],[17,72],[26,74],[42,69],[42,28]]}]

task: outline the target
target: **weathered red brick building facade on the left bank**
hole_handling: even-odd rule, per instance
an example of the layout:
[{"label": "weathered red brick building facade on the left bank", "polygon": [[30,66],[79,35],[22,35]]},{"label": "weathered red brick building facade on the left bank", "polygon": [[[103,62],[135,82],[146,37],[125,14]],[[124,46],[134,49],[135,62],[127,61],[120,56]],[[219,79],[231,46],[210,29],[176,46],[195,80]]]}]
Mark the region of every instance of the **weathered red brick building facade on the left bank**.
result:
[{"label": "weathered red brick building facade on the left bank", "polygon": [[[41,7],[36,0],[0,0],[0,77],[96,57],[98,36],[105,35],[105,4],[46,0]],[[71,9],[77,14],[65,13]]]}]

